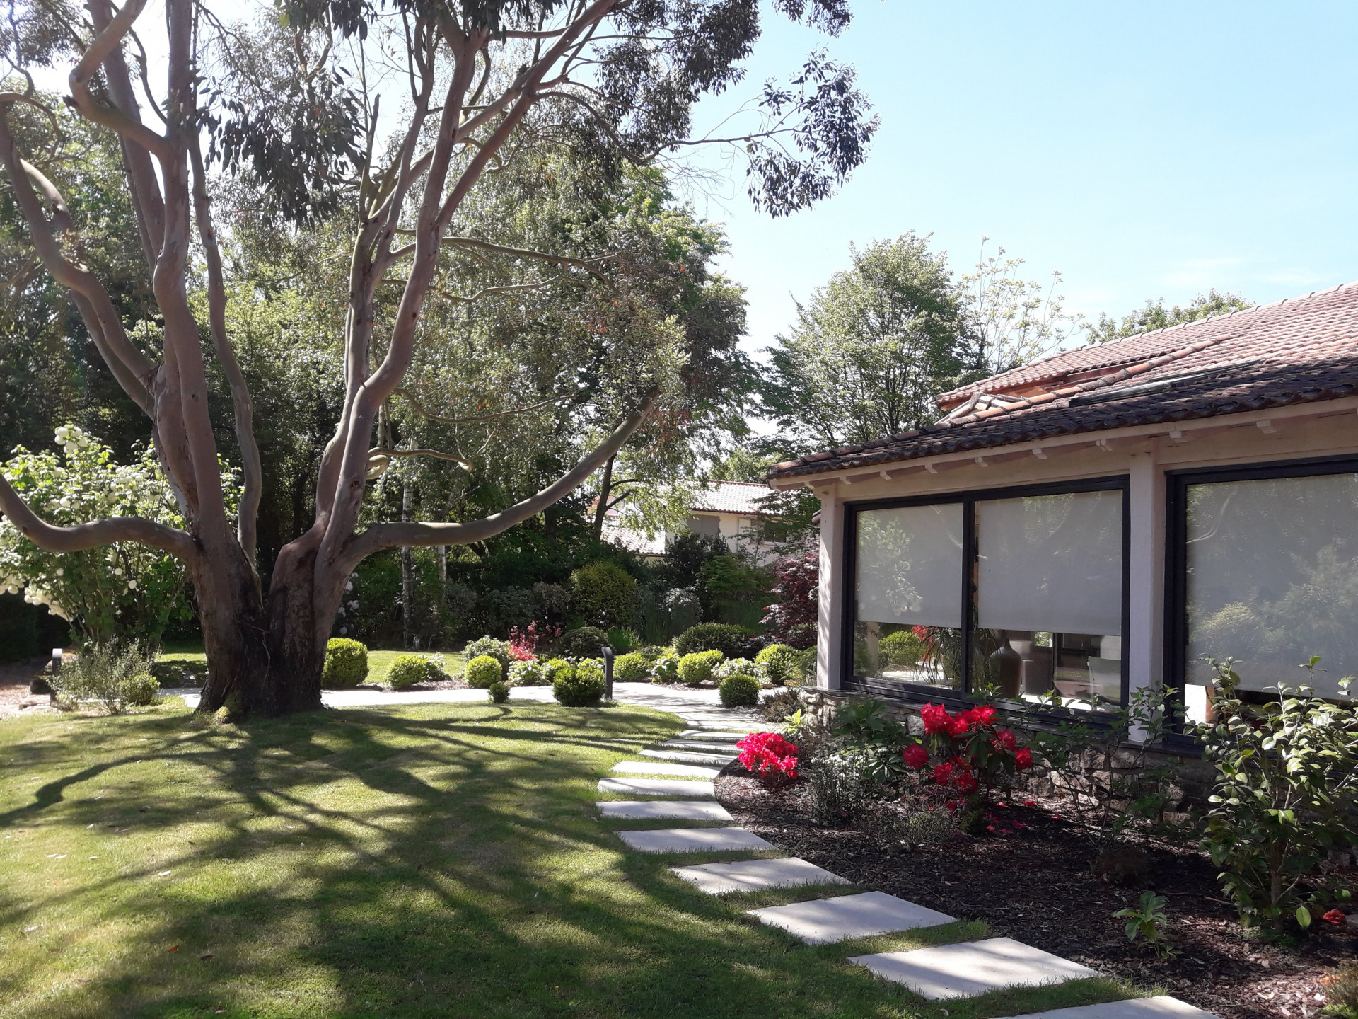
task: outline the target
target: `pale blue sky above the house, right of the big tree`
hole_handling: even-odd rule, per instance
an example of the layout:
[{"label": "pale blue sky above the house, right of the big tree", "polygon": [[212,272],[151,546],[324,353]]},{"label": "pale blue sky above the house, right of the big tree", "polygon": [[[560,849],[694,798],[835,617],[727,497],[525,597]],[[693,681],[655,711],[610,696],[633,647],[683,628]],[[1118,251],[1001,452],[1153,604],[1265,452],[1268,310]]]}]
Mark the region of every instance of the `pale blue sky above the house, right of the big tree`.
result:
[{"label": "pale blue sky above the house, right of the big tree", "polygon": [[[1268,302],[1358,279],[1358,4],[854,4],[838,39],[766,16],[739,92],[812,48],[857,65],[881,114],[835,198],[771,220],[736,186],[725,220],[758,349],[849,260],[933,234],[955,269],[982,236],[1065,276],[1097,317],[1209,287]],[[709,103],[706,118],[729,109]]]}]

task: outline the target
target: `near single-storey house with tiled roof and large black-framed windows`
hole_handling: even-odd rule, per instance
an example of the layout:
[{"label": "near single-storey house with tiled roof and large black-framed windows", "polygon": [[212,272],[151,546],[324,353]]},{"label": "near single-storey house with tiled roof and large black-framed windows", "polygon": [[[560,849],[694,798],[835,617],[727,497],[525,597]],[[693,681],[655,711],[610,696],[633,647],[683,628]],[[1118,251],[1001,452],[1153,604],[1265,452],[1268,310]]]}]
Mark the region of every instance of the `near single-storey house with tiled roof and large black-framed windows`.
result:
[{"label": "near single-storey house with tiled roof and large black-framed windows", "polygon": [[1071,709],[1209,658],[1264,697],[1358,674],[1358,283],[1065,351],[940,421],[777,465],[822,501],[819,687]]}]

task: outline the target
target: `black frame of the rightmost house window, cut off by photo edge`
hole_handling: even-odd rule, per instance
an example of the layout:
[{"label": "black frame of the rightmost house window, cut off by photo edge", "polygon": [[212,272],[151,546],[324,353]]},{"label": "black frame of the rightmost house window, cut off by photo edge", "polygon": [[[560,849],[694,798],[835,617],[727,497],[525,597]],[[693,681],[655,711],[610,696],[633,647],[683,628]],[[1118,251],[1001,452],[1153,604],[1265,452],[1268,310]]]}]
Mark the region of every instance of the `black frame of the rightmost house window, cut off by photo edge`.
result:
[{"label": "black frame of the rightmost house window, cut off by photo edge", "polygon": [[1230,481],[1277,481],[1358,474],[1358,454],[1184,467],[1165,471],[1165,647],[1162,682],[1177,704],[1175,728],[1184,731],[1188,677],[1188,486]]}]

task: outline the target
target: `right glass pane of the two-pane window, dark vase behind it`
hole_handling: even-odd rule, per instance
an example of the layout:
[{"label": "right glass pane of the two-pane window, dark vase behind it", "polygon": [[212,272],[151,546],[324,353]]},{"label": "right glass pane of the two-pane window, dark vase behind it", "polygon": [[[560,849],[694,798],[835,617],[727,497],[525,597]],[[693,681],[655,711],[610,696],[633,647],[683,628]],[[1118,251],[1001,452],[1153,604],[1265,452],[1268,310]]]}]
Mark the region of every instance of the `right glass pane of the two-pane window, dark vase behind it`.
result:
[{"label": "right glass pane of the two-pane window, dark vase behind it", "polygon": [[976,503],[972,687],[1122,701],[1122,490]]}]

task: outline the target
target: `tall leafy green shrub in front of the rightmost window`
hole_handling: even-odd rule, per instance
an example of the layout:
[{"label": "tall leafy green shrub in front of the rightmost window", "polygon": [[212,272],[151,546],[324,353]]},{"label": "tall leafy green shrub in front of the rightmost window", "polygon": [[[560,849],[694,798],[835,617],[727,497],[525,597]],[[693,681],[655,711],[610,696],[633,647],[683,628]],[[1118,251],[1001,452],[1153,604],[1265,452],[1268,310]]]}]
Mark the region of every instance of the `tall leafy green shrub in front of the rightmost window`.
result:
[{"label": "tall leafy green shrub in front of the rightmost window", "polygon": [[[1320,659],[1304,667],[1313,673]],[[1310,687],[1278,686],[1278,700],[1247,704],[1230,659],[1211,662],[1214,719],[1198,728],[1203,758],[1217,770],[1203,848],[1222,868],[1222,890],[1247,925],[1306,927],[1320,861],[1355,833],[1358,712],[1328,704]],[[1350,679],[1340,681],[1347,694]]]}]

